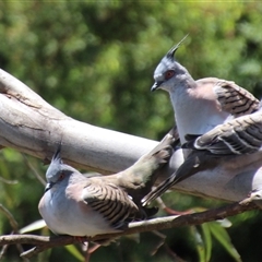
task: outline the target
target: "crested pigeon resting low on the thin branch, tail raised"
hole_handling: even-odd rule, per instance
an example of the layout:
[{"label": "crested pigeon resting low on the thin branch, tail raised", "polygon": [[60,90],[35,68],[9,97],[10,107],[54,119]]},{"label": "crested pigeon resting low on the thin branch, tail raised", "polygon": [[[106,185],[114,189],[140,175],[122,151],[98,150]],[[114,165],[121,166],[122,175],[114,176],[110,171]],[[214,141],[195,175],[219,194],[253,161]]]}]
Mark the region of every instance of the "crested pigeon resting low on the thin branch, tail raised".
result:
[{"label": "crested pigeon resting low on the thin branch, tail raised", "polygon": [[60,147],[46,172],[47,187],[38,209],[47,226],[58,235],[95,236],[124,229],[155,210],[141,205],[157,171],[168,163],[178,143],[171,130],[148,154],[128,169],[110,176],[85,177],[63,164]]}]

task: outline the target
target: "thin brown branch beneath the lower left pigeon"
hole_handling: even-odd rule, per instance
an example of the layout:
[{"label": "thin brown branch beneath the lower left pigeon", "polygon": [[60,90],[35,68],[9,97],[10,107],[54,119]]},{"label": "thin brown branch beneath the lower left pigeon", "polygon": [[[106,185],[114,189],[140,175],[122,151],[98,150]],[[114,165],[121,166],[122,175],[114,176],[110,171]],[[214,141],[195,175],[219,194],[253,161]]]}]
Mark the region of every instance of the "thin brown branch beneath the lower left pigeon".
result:
[{"label": "thin brown branch beneath the lower left pigeon", "polygon": [[[223,207],[213,209],[200,213],[183,215],[183,216],[168,216],[152,218],[143,222],[130,223],[129,227],[124,231],[117,234],[98,235],[93,238],[86,238],[86,241],[98,241],[108,238],[116,238],[123,235],[130,235],[135,233],[170,229],[180,226],[200,225],[206,222],[222,219],[228,216],[234,216],[246,211],[258,210],[259,207],[251,202],[252,199],[246,199],[241,202],[228,204]],[[71,243],[78,243],[79,240],[72,236],[51,236],[43,237],[36,235],[10,235],[0,237],[0,246],[3,245],[16,245],[26,243],[34,245],[35,248],[23,252],[21,255],[24,258],[31,258],[34,254],[43,252],[49,248],[59,246],[67,246]]]}]

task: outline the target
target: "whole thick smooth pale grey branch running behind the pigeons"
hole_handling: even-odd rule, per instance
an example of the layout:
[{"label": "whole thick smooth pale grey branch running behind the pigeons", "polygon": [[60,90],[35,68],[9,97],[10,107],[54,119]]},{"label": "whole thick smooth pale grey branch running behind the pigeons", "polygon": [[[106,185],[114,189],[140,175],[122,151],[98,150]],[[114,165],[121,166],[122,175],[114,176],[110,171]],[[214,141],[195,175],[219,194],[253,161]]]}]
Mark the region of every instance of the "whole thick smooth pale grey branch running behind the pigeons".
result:
[{"label": "whole thick smooth pale grey branch running behind the pigeons", "polygon": [[[0,70],[0,145],[50,159],[62,140],[62,157],[70,165],[102,174],[120,171],[151,151],[156,141],[76,121],[46,103],[29,87]],[[160,180],[183,162],[177,151]],[[219,165],[178,183],[180,192],[227,201],[245,199],[262,188],[262,156]]]}]

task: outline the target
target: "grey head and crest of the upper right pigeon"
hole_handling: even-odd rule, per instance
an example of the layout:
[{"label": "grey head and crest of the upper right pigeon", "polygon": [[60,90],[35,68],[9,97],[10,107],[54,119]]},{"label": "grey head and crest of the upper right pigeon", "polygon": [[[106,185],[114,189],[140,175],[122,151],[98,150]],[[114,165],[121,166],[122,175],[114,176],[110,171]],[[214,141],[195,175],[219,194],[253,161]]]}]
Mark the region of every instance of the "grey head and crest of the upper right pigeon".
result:
[{"label": "grey head and crest of the upper right pigeon", "polygon": [[176,46],[174,46],[160,60],[154,72],[155,83],[151,91],[156,91],[158,88],[171,91],[174,86],[179,84],[183,78],[189,75],[186,68],[178,63],[175,59],[175,52],[179,48],[180,44],[184,40],[186,35],[182,40],[180,40]]}]

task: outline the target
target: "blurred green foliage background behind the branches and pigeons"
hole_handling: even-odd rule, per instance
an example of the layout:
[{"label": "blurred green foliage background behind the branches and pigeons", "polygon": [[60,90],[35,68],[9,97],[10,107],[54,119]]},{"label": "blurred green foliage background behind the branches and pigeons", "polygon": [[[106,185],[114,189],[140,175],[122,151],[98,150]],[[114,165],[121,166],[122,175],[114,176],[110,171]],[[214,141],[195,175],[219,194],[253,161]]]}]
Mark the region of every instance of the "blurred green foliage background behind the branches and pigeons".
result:
[{"label": "blurred green foliage background behind the branches and pigeons", "polygon": [[[241,1],[1,1],[0,67],[73,118],[160,139],[172,126],[174,114],[166,93],[150,93],[152,75],[164,53],[186,34],[189,37],[176,56],[194,79],[233,80],[262,97],[261,12],[260,2]],[[29,160],[44,176],[46,168],[39,160]],[[38,221],[43,186],[34,171],[15,151],[1,151],[0,163],[1,178],[13,181],[0,181],[0,202],[20,227]],[[179,210],[219,204],[182,194],[167,195],[166,201]],[[249,230],[245,226],[252,222],[259,227],[257,216],[237,216],[228,229],[217,224],[204,224],[201,230],[195,227],[202,238],[200,243],[188,229],[168,230],[167,243],[187,261],[238,261],[234,246],[242,258],[258,261],[260,252],[250,254],[247,248],[260,250],[252,237],[258,234],[257,227],[250,226]],[[240,228],[249,239],[236,237]],[[0,230],[12,230],[1,213]],[[171,261],[164,246],[153,260],[150,258],[145,247],[151,238],[151,234],[143,234],[140,245],[124,238],[119,245],[99,249],[92,259]],[[9,259],[17,258],[15,249],[9,250]],[[64,249],[53,249],[38,260],[64,260],[68,254]],[[71,258],[79,261],[76,255],[75,260]]]}]

